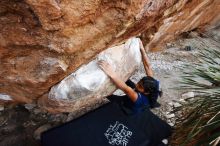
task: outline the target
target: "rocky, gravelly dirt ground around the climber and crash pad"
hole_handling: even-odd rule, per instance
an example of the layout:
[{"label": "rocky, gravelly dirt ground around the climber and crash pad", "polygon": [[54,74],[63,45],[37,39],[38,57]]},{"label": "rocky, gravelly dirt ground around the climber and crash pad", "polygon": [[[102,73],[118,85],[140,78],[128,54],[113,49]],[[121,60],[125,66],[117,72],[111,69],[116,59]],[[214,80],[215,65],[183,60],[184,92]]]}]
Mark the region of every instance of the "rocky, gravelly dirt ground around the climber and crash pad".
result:
[{"label": "rocky, gravelly dirt ground around the climber and crash pad", "polygon": [[[153,112],[166,120],[171,126],[175,125],[175,116],[171,114],[176,101],[184,100],[182,94],[187,91],[173,89],[180,80],[181,70],[185,63],[196,60],[194,55],[203,47],[200,40],[184,39],[173,44],[167,44],[163,52],[150,53],[148,56],[154,70],[155,77],[160,81],[163,97],[159,99],[160,108]],[[186,48],[191,46],[191,48]],[[144,76],[144,69],[140,67],[131,80],[137,82]],[[121,94],[117,91],[117,94]],[[82,114],[82,113],[81,113]],[[1,107],[0,111],[0,146],[39,146],[39,135],[42,131],[62,124],[78,117],[79,113],[49,114],[36,105],[17,105]]]}]

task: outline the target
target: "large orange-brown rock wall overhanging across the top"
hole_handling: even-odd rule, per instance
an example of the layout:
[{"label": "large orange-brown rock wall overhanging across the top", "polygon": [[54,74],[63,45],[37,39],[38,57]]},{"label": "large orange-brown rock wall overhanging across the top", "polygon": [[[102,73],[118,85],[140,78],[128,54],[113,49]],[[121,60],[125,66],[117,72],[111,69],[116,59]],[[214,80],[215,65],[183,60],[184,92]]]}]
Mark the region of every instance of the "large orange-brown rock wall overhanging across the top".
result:
[{"label": "large orange-brown rock wall overhanging across the top", "polygon": [[182,32],[216,26],[219,5],[219,0],[1,0],[0,101],[36,101],[102,50],[142,32],[146,47],[155,50]]}]

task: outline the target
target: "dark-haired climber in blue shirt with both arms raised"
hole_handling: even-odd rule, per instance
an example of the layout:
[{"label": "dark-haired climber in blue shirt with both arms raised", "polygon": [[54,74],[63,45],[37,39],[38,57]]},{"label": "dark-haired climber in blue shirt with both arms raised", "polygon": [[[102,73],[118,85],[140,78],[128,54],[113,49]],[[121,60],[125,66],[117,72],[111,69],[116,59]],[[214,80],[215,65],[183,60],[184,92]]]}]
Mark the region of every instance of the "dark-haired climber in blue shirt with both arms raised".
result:
[{"label": "dark-haired climber in blue shirt with both arms raised", "polygon": [[159,81],[153,78],[149,59],[140,40],[139,45],[147,76],[143,77],[136,85],[130,80],[124,83],[107,62],[98,62],[99,67],[110,77],[113,83],[126,94],[126,96],[111,95],[108,99],[122,103],[125,109],[130,109],[133,113],[138,113],[146,108],[158,107],[157,98],[162,95],[162,91],[159,90]]}]

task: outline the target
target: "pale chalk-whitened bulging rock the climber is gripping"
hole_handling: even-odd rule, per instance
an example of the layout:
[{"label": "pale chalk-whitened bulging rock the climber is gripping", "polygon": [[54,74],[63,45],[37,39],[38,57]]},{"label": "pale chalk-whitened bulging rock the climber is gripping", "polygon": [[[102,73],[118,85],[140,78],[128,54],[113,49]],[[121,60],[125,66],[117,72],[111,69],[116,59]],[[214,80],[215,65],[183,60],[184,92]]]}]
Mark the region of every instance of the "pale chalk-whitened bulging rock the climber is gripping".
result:
[{"label": "pale chalk-whitened bulging rock the climber is gripping", "polygon": [[141,64],[139,41],[129,39],[125,44],[101,52],[95,60],[52,87],[49,95],[40,99],[40,105],[51,112],[76,112],[112,94],[117,88],[98,67],[98,60],[107,61],[126,81]]}]

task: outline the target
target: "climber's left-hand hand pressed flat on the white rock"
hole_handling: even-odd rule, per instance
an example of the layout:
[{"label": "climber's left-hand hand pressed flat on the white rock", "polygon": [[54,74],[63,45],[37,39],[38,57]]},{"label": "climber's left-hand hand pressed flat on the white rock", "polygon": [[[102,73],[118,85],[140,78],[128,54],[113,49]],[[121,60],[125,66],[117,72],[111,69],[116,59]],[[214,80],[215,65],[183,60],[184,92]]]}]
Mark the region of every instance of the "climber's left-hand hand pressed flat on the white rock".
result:
[{"label": "climber's left-hand hand pressed flat on the white rock", "polygon": [[116,73],[112,69],[112,66],[106,61],[101,60],[98,62],[98,65],[109,77],[113,78],[116,76]]}]

